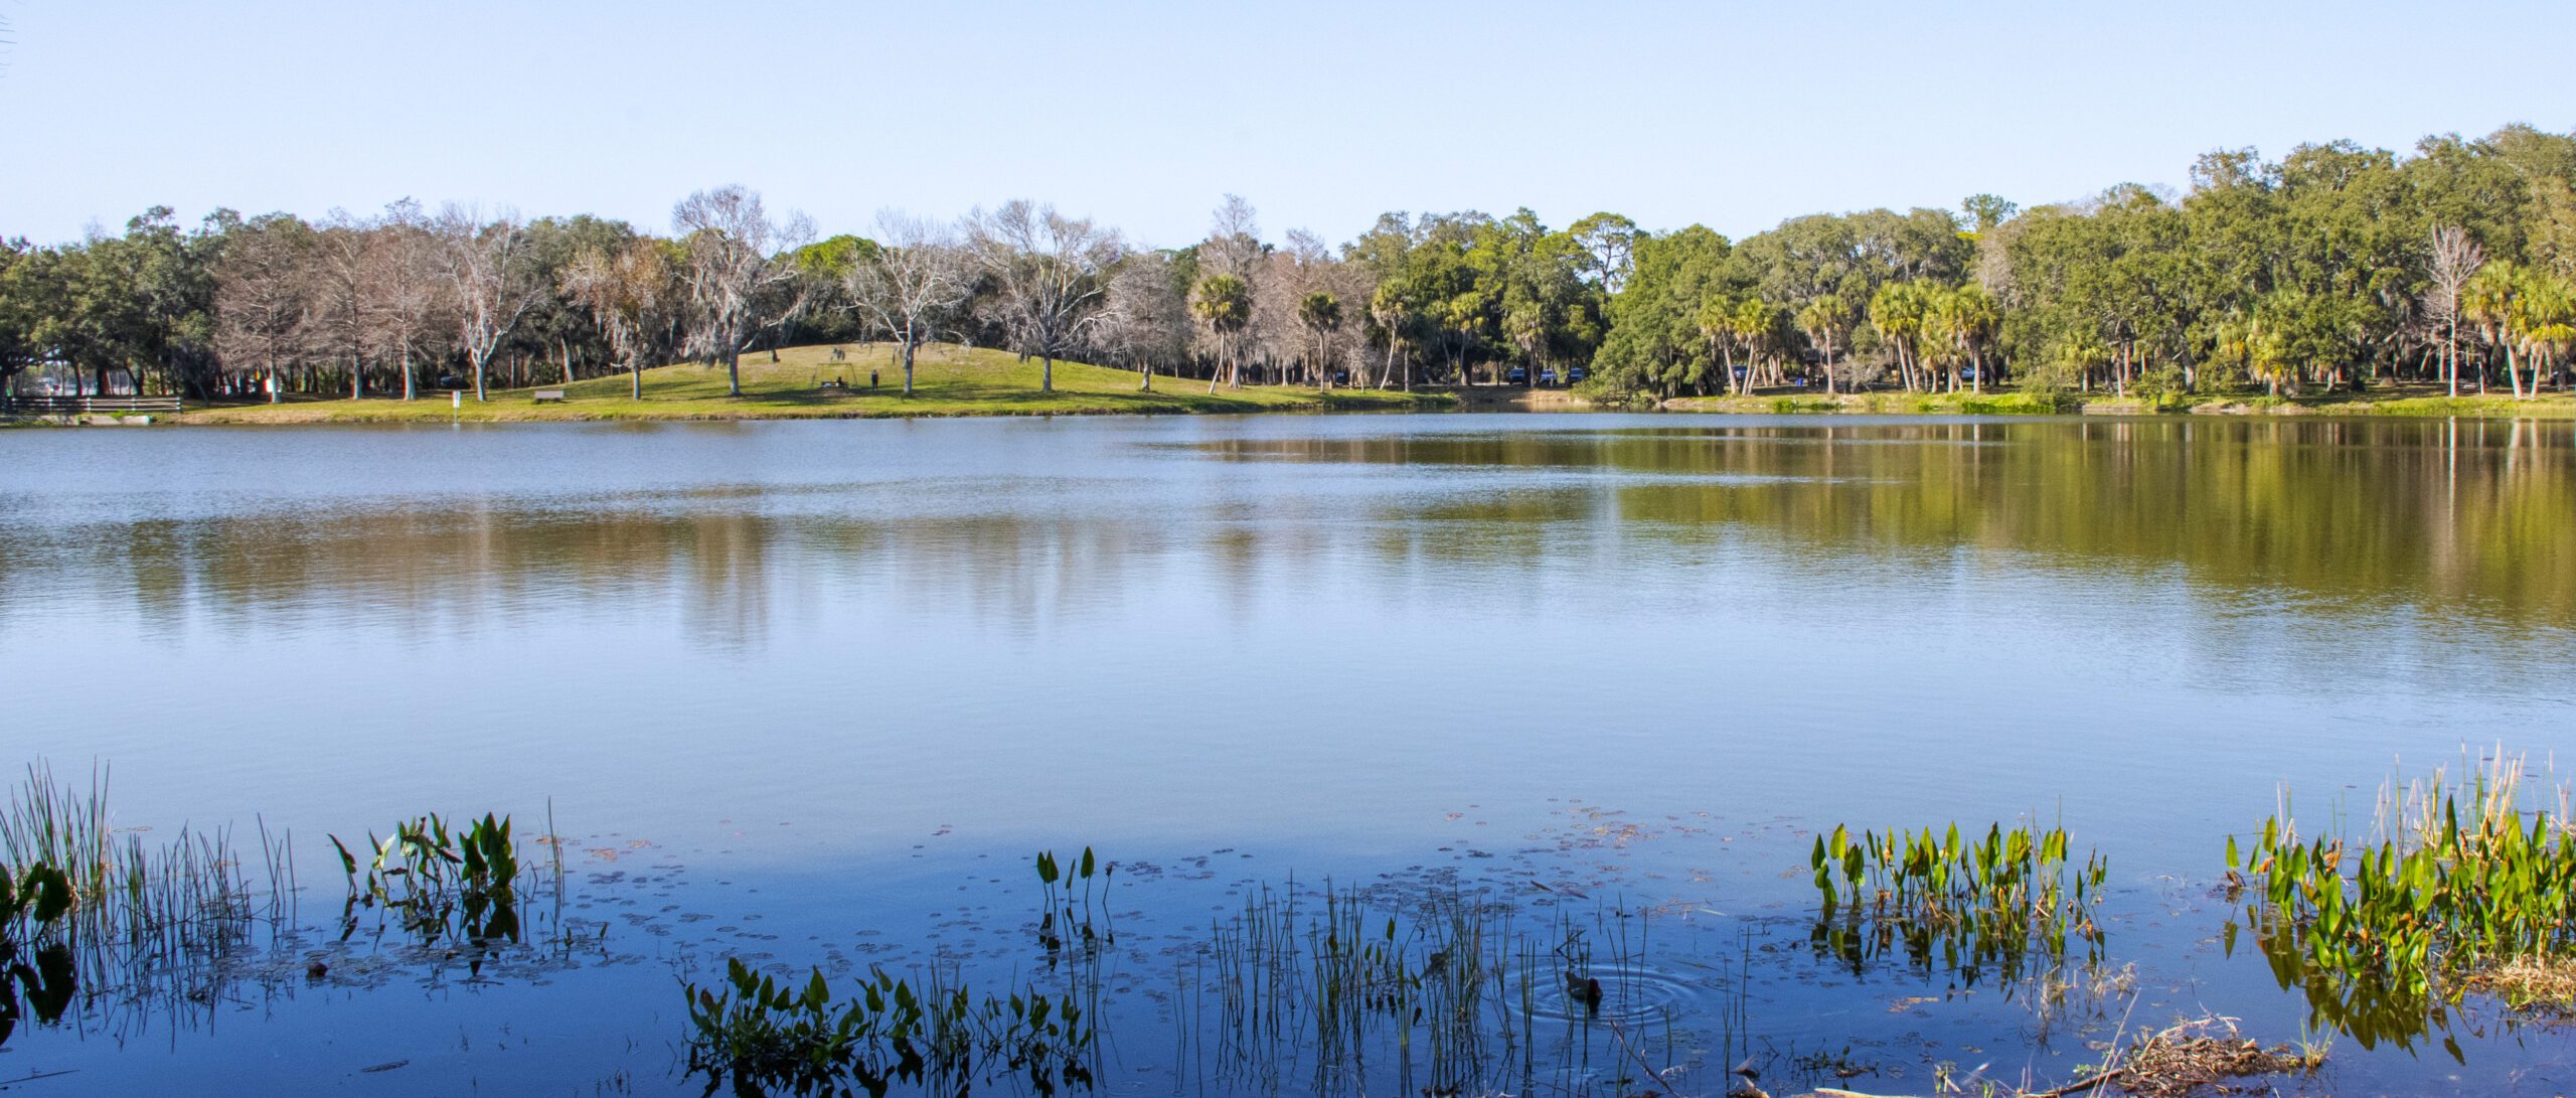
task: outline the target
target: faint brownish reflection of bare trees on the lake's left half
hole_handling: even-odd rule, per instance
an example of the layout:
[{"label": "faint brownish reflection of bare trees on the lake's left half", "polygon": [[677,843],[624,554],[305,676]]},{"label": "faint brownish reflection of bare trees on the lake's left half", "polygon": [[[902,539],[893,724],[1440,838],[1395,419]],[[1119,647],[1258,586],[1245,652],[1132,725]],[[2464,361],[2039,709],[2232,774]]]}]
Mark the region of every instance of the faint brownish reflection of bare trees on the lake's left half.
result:
[{"label": "faint brownish reflection of bare trees on the lake's left half", "polygon": [[[57,585],[46,598],[54,606],[98,588],[116,593],[108,580],[124,580],[147,629],[162,634],[204,613],[216,629],[389,626],[433,637],[587,611],[631,621],[636,601],[675,601],[685,639],[724,650],[757,650],[773,616],[853,585],[922,613],[963,611],[1030,631],[1115,606],[1131,562],[1167,541],[1154,523],[1097,515],[850,518],[507,503],[149,518],[77,534],[59,549],[28,552],[0,531],[0,557],[13,562],[0,580]],[[13,613],[41,613],[41,603],[0,601],[0,616]]]}]

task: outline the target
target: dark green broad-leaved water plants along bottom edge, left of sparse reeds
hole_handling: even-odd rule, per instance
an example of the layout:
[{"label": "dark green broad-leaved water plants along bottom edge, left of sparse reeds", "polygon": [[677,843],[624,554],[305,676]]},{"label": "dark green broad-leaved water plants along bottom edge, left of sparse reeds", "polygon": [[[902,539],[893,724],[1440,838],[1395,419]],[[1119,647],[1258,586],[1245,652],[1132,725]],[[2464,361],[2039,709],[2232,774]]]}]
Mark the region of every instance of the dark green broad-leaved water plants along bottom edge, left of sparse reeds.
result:
[{"label": "dark green broad-leaved water plants along bottom edge, left of sparse reeds", "polygon": [[1054,1093],[1092,1080],[1092,1016],[1036,987],[976,1000],[935,972],[914,990],[871,969],[837,997],[819,969],[801,990],[742,959],[724,969],[721,985],[683,985],[688,1072],[706,1075],[706,1093],[884,1095],[894,1083],[969,1093],[999,1077]]}]

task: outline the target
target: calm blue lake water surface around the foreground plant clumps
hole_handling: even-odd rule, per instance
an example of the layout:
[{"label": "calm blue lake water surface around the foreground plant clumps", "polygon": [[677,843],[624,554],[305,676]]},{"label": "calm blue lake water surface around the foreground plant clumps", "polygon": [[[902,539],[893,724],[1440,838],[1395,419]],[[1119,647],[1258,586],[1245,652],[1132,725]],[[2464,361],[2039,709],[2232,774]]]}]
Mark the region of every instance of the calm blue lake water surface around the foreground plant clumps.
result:
[{"label": "calm blue lake water surface around the foreground plant clumps", "polygon": [[[551,809],[598,928],[90,1000],[0,1046],[44,1093],[698,1093],[680,979],[1025,977],[1028,856],[1084,845],[1126,869],[1100,1093],[1255,1090],[1167,992],[1291,879],[1638,912],[1656,1059],[2066,1080],[2123,1021],[2303,1034],[2213,897],[2282,786],[2365,825],[2398,768],[2576,745],[2568,423],[8,430],[0,469],[0,760],[111,768],[139,835],[291,833],[319,923],[327,833]],[[1953,820],[2110,858],[2136,1005],[1806,951],[1819,827]],[[2576,1083],[2566,1034],[2445,1026],[2308,1085]],[[1589,1039],[1543,1093],[1613,1090]]]}]

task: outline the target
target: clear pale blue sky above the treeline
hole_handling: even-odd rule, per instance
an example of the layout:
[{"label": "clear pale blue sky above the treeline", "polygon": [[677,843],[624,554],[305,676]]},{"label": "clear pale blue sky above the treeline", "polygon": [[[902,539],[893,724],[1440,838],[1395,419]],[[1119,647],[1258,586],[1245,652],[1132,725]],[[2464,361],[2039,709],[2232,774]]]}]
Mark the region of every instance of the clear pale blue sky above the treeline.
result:
[{"label": "clear pale blue sky above the treeline", "polygon": [[1030,196],[1783,217],[2179,186],[2195,155],[2576,126],[2576,3],[0,0],[0,235],[415,196],[824,232]]}]

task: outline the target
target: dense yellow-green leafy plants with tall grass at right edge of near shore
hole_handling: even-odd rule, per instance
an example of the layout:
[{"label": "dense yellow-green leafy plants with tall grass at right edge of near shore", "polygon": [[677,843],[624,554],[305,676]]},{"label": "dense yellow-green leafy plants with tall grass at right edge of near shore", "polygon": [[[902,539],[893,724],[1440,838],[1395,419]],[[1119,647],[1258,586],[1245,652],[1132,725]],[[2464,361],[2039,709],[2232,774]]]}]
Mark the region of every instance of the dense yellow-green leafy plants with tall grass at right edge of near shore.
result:
[{"label": "dense yellow-green leafy plants with tall grass at right edge of near shore", "polygon": [[2282,987],[2367,1046],[2421,1034],[2481,972],[2576,954],[2576,840],[2524,812],[2524,776],[2499,753],[2460,781],[2391,781],[2378,843],[2303,838],[2287,796],[2249,851],[2231,835],[2228,892]]}]

